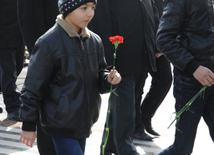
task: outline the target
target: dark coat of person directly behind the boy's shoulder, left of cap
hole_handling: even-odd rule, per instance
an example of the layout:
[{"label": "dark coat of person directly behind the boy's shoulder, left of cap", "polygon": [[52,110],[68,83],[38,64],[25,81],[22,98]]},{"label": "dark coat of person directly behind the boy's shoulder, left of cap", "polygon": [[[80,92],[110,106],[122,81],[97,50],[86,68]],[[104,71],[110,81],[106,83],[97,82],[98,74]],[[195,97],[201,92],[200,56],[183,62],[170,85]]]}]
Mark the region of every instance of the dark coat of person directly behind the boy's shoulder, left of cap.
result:
[{"label": "dark coat of person directly behind the boy's shoulder, left of cap", "polygon": [[51,28],[59,14],[57,0],[18,0],[18,18],[31,53],[36,40]]}]

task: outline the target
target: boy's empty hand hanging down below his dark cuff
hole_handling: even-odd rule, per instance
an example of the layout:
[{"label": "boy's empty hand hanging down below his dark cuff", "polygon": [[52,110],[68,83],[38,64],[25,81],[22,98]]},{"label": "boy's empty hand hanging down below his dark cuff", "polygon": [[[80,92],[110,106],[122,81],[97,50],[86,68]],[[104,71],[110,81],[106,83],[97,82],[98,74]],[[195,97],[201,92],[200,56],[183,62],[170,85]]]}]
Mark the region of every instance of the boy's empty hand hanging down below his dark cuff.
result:
[{"label": "boy's empty hand hanging down below his dark cuff", "polygon": [[32,147],[36,139],[36,132],[34,131],[22,131],[20,140],[27,146]]}]

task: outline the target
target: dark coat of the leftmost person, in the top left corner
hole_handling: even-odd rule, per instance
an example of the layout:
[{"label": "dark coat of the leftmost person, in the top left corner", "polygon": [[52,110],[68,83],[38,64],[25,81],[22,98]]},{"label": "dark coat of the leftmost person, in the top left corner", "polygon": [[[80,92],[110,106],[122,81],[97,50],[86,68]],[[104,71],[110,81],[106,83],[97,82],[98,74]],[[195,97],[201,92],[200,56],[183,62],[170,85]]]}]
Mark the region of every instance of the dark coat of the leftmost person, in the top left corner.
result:
[{"label": "dark coat of the leftmost person, in the top left corner", "polygon": [[16,0],[0,1],[0,48],[21,47],[23,40],[17,19]]}]

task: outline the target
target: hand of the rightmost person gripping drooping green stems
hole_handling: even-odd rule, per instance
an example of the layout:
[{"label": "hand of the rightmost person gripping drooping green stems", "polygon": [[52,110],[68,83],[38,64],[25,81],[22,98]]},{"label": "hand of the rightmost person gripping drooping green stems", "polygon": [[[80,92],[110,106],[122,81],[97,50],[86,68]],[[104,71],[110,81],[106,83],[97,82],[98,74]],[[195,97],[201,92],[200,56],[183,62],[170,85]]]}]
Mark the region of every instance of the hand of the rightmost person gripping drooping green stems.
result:
[{"label": "hand of the rightmost person gripping drooping green stems", "polygon": [[199,66],[193,76],[203,85],[211,86],[214,84],[214,74],[206,67]]}]

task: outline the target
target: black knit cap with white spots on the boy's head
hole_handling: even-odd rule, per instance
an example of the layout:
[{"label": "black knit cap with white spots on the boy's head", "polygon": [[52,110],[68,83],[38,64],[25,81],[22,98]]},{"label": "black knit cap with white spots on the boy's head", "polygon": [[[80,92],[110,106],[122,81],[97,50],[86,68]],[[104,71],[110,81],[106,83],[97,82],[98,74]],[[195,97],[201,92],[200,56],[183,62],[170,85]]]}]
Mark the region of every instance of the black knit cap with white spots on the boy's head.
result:
[{"label": "black knit cap with white spots on the boy's head", "polygon": [[97,4],[97,0],[59,0],[59,12],[63,14],[63,18],[65,18],[70,12],[88,2]]}]

